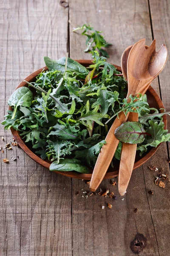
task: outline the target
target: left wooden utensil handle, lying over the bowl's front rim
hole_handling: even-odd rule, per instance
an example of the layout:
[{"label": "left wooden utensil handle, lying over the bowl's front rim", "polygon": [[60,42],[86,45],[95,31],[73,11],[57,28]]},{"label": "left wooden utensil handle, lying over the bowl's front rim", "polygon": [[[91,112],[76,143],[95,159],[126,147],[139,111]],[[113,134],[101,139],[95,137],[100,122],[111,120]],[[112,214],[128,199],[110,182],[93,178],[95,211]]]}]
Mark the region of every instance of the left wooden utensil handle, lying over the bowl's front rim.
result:
[{"label": "left wooden utensil handle, lying over the bowl's front rim", "polygon": [[110,130],[108,131],[108,134],[105,138],[106,144],[102,146],[96,161],[96,165],[94,166],[94,171],[90,183],[91,191],[96,191],[103,178],[105,177],[105,173],[108,170],[116,148],[119,144],[119,140],[116,139],[114,131],[118,126],[122,125],[122,123],[126,122],[128,115],[129,113],[127,113],[127,116],[125,116],[123,112],[119,113],[119,119],[116,117]]}]

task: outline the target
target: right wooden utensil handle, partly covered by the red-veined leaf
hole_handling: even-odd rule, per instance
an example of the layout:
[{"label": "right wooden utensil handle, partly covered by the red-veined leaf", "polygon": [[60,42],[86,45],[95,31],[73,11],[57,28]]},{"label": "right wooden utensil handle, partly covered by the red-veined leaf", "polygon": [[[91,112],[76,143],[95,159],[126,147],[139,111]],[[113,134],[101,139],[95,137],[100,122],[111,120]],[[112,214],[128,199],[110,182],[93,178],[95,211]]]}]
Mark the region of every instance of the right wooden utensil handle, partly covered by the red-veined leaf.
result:
[{"label": "right wooden utensil handle, partly covered by the red-veined leaf", "polygon": [[[130,112],[127,121],[138,122],[138,113]],[[122,143],[119,165],[118,189],[120,195],[125,195],[135,163],[137,144]]]}]

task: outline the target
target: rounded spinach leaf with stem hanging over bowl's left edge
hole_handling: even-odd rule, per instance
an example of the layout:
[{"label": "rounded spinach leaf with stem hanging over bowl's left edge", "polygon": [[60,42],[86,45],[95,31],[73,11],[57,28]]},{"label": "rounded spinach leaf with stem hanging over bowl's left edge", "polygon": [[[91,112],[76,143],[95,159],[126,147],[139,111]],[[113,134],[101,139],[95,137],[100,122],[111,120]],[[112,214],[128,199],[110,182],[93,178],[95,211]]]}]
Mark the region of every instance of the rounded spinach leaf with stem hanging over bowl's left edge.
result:
[{"label": "rounded spinach leaf with stem hanging over bowl's left edge", "polygon": [[30,107],[33,100],[33,94],[27,87],[20,87],[12,93],[8,99],[8,105],[14,106],[14,112],[11,119],[14,119],[17,108],[20,106]]}]

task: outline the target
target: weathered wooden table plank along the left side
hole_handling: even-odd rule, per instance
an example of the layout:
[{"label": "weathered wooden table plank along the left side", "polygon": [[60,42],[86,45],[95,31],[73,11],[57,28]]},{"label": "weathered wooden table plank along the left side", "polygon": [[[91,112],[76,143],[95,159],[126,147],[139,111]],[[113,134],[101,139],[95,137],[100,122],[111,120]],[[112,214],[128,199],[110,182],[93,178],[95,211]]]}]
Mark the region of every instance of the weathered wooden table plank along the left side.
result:
[{"label": "weathered wooden table plank along the left side", "polygon": [[[59,2],[1,3],[0,120],[19,82],[45,65],[43,56],[65,55],[68,8]],[[3,146],[12,139],[2,125],[0,136]],[[20,148],[0,157],[0,255],[71,256],[71,179],[45,170]],[[6,157],[9,164],[2,161]]]}]

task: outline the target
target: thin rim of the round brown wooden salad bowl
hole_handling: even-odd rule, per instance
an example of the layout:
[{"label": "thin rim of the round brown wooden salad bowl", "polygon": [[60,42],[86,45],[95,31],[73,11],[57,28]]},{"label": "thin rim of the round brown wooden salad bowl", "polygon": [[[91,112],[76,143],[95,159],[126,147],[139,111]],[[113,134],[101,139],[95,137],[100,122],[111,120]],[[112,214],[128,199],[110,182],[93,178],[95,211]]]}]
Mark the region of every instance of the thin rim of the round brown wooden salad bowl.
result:
[{"label": "thin rim of the round brown wooden salad bowl", "polygon": [[[92,64],[92,60],[76,60],[77,62],[79,62],[80,64],[82,65],[85,65],[85,66],[89,66],[90,64]],[[113,64],[114,65],[114,64]],[[120,66],[117,66],[117,65],[114,65],[118,71],[122,71],[121,70],[121,67]],[[42,72],[42,70],[46,71],[48,70],[47,67],[43,67],[43,68],[40,68],[39,70],[36,70],[34,71],[33,73],[31,73],[29,76],[26,77],[26,81],[33,81],[35,79],[35,77]],[[24,81],[22,81],[17,87],[16,89],[20,88],[20,87],[23,87],[23,86],[28,86],[28,84]],[[15,89],[15,90],[16,90]],[[164,104],[163,102],[161,101],[159,95],[156,93],[156,91],[150,86],[148,88],[148,91],[150,91],[150,93],[153,95],[153,97],[156,99],[158,105],[159,105],[159,108],[164,108]],[[12,110],[11,107],[8,108],[8,110]],[[166,115],[163,115],[163,122],[164,122],[164,129],[167,128],[167,117]],[[17,141],[18,145],[20,146],[20,148],[23,149],[23,151],[29,156],[31,157],[35,162],[39,163],[41,166],[49,169],[50,167],[50,163],[46,162],[45,160],[42,160],[39,156],[37,156],[36,154],[34,154],[34,152],[31,151],[30,148],[27,147],[26,143],[23,142],[23,140],[21,139],[20,137],[20,134],[18,131],[16,131],[14,128],[11,128],[11,133],[14,137],[14,139]],[[138,168],[139,166],[142,166],[142,164],[144,164],[147,160],[150,159],[150,157],[153,156],[153,154],[155,154],[155,152],[158,150],[159,146],[161,145],[161,143],[156,147],[156,148],[151,148],[151,150],[144,156],[142,157],[140,160],[138,160],[134,166],[133,166],[133,170]],[[78,179],[84,179],[84,180],[90,180],[91,179],[91,176],[92,174],[89,173],[89,174],[85,174],[85,173],[77,173],[77,172],[73,172],[73,171],[69,171],[69,172],[59,172],[59,171],[54,171],[58,174],[61,174],[61,175],[64,175],[64,176],[67,176],[67,177],[74,177],[74,178],[78,178]],[[106,172],[105,174],[105,177],[104,179],[109,179],[109,178],[112,178],[112,177],[116,177],[118,176],[119,174],[119,171],[118,170],[115,170],[113,172]]]}]

